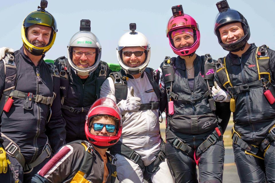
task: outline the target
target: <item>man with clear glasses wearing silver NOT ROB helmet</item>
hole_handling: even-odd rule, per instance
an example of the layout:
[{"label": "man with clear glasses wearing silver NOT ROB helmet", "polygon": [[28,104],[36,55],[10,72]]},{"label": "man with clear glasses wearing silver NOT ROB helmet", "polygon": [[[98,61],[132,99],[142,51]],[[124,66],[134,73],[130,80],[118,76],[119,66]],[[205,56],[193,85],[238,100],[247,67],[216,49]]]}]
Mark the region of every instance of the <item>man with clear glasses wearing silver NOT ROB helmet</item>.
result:
[{"label": "man with clear glasses wearing silver NOT ROB helmet", "polygon": [[80,31],[69,41],[67,58],[56,59],[61,80],[61,108],[66,120],[66,142],[85,140],[87,112],[99,98],[100,87],[109,75],[107,63],[100,60],[99,39],[91,33],[91,21],[81,20]]}]

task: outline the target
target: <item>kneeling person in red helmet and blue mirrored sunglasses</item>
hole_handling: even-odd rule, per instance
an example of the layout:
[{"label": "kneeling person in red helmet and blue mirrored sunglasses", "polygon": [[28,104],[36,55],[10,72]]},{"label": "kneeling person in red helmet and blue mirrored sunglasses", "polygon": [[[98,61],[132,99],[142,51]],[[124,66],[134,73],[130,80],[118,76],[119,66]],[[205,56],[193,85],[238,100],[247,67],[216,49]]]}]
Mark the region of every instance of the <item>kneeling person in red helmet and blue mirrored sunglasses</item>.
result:
[{"label": "kneeling person in red helmet and blue mirrored sunglasses", "polygon": [[109,98],[97,100],[88,112],[85,134],[89,142],[77,140],[63,146],[36,174],[34,182],[115,182],[115,157],[107,149],[118,142],[121,114]]}]

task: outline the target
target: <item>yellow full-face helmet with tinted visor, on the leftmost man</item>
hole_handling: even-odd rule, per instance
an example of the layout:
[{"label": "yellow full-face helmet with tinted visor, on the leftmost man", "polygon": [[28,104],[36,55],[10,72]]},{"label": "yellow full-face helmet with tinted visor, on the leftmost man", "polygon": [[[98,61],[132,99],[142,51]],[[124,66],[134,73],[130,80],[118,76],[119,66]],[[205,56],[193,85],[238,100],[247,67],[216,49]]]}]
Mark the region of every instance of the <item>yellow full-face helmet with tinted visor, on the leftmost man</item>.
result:
[{"label": "yellow full-face helmet with tinted visor, on the leftmost man", "polygon": [[[32,45],[27,39],[27,28],[32,26],[32,25],[44,25],[48,27],[52,27],[52,33],[50,36],[50,41],[48,45],[45,47],[36,47]],[[30,13],[23,21],[23,25],[21,28],[21,37],[23,44],[25,48],[33,55],[44,55],[54,44],[54,40],[56,37],[56,32],[57,32],[57,26],[56,26],[56,20],[54,17],[45,10],[37,10],[32,13]]]}]

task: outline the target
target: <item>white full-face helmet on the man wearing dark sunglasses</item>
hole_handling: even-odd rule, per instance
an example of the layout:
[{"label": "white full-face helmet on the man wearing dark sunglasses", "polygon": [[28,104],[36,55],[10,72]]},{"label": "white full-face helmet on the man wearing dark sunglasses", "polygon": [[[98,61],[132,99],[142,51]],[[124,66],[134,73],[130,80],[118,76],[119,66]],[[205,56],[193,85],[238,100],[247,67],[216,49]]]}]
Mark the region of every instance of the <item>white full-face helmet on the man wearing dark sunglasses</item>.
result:
[{"label": "white full-face helmet on the man wearing dark sunglasses", "polygon": [[[122,59],[122,49],[124,47],[142,47],[142,48],[144,48],[145,54],[146,54],[144,62],[140,66],[134,67],[134,68],[128,67],[127,65],[125,65],[123,62],[123,59]],[[149,43],[148,39],[145,37],[145,35],[143,35],[142,33],[131,31],[131,32],[127,32],[127,33],[123,34],[120,37],[120,39],[118,41],[118,45],[117,45],[117,59],[118,59],[119,65],[126,73],[129,73],[131,75],[143,73],[149,63],[150,55],[151,55],[150,43]]]}]

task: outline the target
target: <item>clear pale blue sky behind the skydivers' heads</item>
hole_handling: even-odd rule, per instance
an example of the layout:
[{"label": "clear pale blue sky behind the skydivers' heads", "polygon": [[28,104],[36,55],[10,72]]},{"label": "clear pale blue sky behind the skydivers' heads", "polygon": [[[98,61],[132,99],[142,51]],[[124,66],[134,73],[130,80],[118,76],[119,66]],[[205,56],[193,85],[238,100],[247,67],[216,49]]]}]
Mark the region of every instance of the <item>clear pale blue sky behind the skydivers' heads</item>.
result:
[{"label": "clear pale blue sky behind the skydivers' heads", "polygon": [[[102,46],[101,60],[118,63],[117,42],[129,31],[129,23],[136,23],[137,30],[148,38],[151,44],[149,67],[157,69],[164,57],[176,56],[166,38],[166,25],[172,16],[171,7],[182,4],[184,13],[191,15],[199,24],[201,44],[198,55],[210,53],[214,59],[228,52],[218,44],[213,33],[218,0],[193,1],[58,1],[48,0],[46,10],[57,21],[58,32],[53,47],[46,53],[48,59],[67,54],[67,45],[74,33],[79,31],[80,20],[91,20],[91,31],[97,35]],[[228,0],[229,7],[240,11],[250,25],[249,43],[268,45],[275,49],[274,0]],[[2,1],[0,5],[0,47],[15,50],[22,46],[21,26],[24,18],[40,5],[40,0]]]}]

